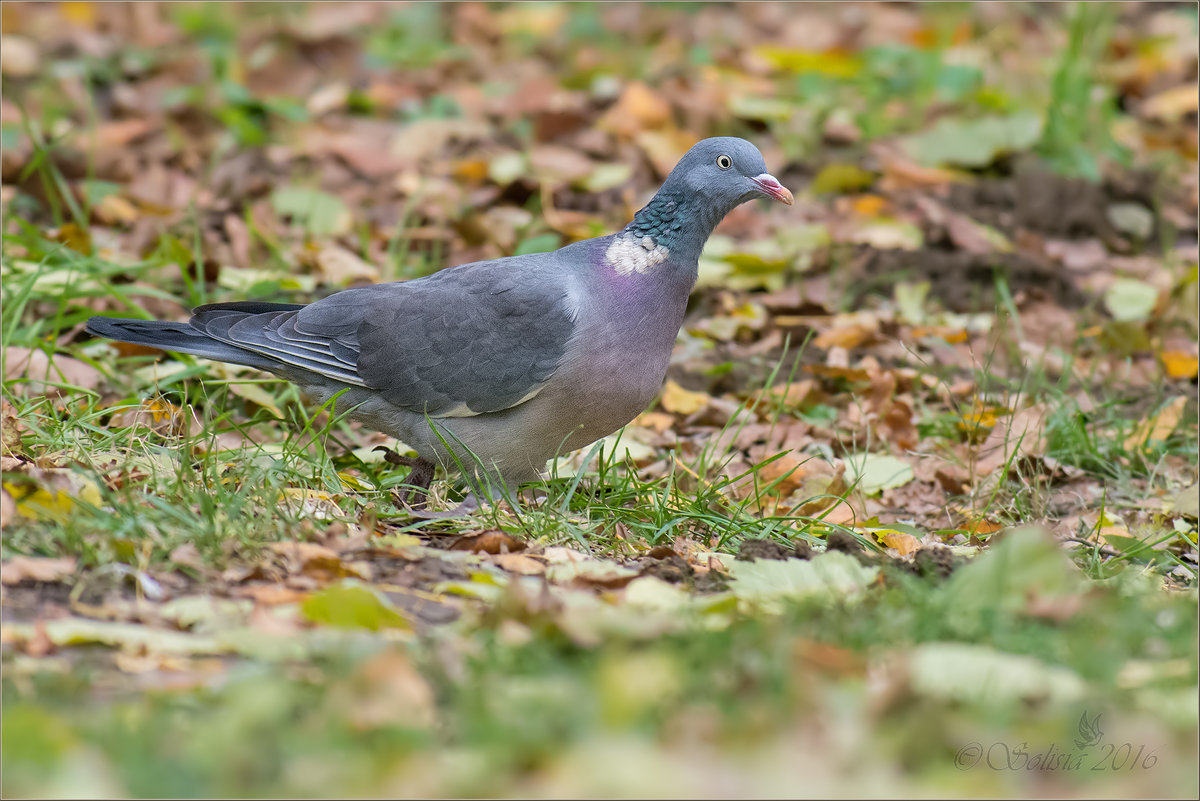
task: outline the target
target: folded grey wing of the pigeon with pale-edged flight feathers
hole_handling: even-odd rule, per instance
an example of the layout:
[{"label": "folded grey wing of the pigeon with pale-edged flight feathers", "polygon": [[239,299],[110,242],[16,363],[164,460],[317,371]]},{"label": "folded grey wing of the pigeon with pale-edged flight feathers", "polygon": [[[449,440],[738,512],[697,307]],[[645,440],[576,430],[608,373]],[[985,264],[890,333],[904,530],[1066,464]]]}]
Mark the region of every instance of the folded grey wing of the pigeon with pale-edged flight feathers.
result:
[{"label": "folded grey wing of the pigeon with pale-edged flight feathers", "polygon": [[[545,257],[542,257],[545,258]],[[247,314],[197,309],[192,325],[221,342],[378,390],[431,416],[508,409],[536,395],[566,351],[574,311],[542,259],[497,259],[426,278],[347,289],[310,306]]]}]

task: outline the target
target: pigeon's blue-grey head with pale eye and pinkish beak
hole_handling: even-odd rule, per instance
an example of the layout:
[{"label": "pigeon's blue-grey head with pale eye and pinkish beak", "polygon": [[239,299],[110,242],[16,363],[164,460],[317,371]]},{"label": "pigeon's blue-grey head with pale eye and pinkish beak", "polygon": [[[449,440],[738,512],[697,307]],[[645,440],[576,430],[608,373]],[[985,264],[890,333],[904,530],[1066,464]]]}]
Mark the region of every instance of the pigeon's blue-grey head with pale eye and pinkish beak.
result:
[{"label": "pigeon's blue-grey head with pale eye and pinkish beak", "polygon": [[767,171],[758,149],[737,137],[696,143],[671,170],[662,189],[703,198],[718,219],[752,198],[792,205],[792,193]]}]

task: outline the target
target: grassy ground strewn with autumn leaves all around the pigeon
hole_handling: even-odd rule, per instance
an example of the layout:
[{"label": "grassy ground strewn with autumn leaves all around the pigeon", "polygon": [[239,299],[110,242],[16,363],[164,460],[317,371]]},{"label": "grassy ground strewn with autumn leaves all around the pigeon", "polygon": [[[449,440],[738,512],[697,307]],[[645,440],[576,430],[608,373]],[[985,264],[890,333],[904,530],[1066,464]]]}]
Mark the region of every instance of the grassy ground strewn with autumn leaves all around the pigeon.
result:
[{"label": "grassy ground strewn with autumn leaves all around the pigeon", "polygon": [[[1200,791],[1194,5],[2,32],[6,795]],[[706,135],[797,203],[520,508],[414,519],[403,444],[83,332],[610,233]]]}]

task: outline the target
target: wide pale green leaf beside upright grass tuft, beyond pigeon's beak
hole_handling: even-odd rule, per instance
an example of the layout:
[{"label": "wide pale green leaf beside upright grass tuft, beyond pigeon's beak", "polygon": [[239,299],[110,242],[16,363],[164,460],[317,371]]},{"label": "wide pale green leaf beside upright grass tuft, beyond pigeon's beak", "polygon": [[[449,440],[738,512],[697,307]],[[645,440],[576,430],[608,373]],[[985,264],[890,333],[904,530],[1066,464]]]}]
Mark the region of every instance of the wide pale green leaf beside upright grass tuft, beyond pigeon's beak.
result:
[{"label": "wide pale green leaf beside upright grass tuft, beyond pigeon's beak", "polygon": [[1042,116],[1020,112],[978,120],[938,120],[929,131],[901,139],[900,145],[923,164],[986,167],[1003,153],[1028,150],[1040,135]]}]

